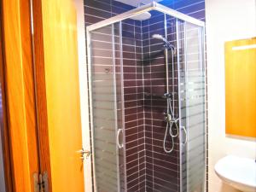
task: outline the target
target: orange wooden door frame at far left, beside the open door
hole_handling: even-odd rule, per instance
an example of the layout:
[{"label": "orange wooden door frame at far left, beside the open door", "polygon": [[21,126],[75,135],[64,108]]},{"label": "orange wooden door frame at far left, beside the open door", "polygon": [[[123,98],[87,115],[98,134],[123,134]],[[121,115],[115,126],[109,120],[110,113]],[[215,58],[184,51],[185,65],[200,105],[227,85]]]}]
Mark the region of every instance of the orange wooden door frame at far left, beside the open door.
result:
[{"label": "orange wooden door frame at far left, beside the open door", "polygon": [[[30,0],[0,0],[3,39],[3,81],[9,151],[7,181],[15,192],[34,191],[33,173],[39,172],[36,97]],[[5,150],[8,151],[7,148]],[[11,177],[11,178],[9,178]]]}]

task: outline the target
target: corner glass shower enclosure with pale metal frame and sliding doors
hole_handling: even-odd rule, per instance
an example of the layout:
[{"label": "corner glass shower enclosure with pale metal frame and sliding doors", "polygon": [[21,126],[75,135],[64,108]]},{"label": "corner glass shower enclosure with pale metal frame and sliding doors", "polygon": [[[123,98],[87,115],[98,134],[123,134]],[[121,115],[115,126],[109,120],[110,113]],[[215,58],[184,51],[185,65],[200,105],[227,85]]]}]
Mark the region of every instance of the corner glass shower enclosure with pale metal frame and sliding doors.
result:
[{"label": "corner glass shower enclosure with pale metal frame and sliding doors", "polygon": [[153,2],[86,32],[92,191],[206,191],[205,23]]}]

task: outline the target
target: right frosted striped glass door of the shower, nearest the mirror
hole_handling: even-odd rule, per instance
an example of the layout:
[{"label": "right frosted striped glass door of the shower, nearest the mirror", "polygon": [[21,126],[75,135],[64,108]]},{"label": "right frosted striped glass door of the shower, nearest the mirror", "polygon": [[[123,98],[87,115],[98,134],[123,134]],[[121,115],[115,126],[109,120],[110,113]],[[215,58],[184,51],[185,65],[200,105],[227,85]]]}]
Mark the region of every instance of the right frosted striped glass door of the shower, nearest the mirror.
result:
[{"label": "right frosted striped glass door of the shower, nearest the mirror", "polygon": [[205,192],[206,74],[204,28],[177,20],[180,191]]}]

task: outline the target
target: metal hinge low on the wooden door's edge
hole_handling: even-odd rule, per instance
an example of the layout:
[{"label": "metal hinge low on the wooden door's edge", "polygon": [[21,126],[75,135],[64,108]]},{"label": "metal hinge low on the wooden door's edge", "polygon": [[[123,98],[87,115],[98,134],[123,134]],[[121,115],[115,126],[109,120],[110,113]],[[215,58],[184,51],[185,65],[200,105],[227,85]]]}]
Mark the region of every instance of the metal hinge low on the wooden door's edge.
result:
[{"label": "metal hinge low on the wooden door's edge", "polygon": [[33,173],[34,192],[49,192],[48,175],[44,173]]}]

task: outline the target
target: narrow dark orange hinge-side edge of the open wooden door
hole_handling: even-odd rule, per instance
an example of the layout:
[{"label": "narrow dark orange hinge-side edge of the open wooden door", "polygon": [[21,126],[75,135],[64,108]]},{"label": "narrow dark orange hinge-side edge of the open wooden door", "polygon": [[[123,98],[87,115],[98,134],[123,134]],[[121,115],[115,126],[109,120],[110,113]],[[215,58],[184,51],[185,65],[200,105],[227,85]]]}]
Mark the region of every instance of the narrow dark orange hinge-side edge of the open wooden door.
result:
[{"label": "narrow dark orange hinge-side edge of the open wooden door", "polygon": [[34,78],[38,116],[38,155],[40,157],[40,172],[47,172],[49,192],[51,192],[52,183],[49,156],[47,96],[44,67],[44,32],[42,0],[31,0],[31,3],[34,32],[32,38],[34,55]]}]

